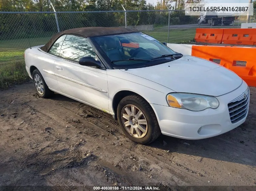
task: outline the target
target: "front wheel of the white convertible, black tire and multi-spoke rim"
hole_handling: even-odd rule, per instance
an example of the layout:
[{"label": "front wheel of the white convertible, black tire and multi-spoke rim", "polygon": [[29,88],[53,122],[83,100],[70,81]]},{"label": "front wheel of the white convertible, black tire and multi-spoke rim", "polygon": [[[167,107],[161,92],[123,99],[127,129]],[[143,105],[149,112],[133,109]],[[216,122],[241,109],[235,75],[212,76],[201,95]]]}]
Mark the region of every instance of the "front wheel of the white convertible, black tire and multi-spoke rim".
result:
[{"label": "front wheel of the white convertible, black tire and multi-spoke rim", "polygon": [[134,142],[149,144],[161,134],[153,109],[140,96],[124,97],[118,104],[117,118],[124,134]]}]

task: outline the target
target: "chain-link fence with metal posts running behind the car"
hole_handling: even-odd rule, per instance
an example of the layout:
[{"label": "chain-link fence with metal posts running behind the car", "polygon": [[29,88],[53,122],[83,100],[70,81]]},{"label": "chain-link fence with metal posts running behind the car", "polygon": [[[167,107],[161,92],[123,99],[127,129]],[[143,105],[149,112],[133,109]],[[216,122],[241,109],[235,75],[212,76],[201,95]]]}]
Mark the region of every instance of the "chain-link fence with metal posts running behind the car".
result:
[{"label": "chain-link fence with metal posts running behind the car", "polygon": [[[223,27],[221,23],[217,26],[198,24],[198,18],[187,16],[181,10],[0,12],[0,64],[22,59],[25,48],[45,44],[58,30],[70,28],[127,27],[161,42],[188,43],[193,40],[198,27]],[[241,27],[246,21],[240,18],[225,28]],[[251,22],[255,21],[255,16],[251,18]]]}]

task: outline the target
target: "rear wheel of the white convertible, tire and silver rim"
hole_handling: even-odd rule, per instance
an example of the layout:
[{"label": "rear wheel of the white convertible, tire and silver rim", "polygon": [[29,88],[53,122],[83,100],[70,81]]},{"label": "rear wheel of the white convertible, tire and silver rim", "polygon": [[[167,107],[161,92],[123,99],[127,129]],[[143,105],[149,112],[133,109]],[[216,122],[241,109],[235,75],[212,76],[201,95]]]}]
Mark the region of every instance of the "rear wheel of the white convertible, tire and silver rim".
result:
[{"label": "rear wheel of the white convertible, tire and silver rim", "polygon": [[49,98],[53,96],[54,92],[48,88],[42,74],[39,72],[38,69],[35,69],[33,71],[32,80],[33,80],[33,84],[36,89],[36,92],[40,97]]}]

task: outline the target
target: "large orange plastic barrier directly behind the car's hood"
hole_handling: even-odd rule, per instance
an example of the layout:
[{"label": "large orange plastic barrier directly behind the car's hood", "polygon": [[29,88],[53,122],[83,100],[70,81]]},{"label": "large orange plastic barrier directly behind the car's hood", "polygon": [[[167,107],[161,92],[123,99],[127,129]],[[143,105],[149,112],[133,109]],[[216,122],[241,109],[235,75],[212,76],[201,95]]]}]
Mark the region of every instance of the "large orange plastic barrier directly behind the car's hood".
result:
[{"label": "large orange plastic barrier directly behind the car's hood", "polygon": [[[220,65],[235,72],[249,86],[256,87],[256,47],[193,45],[191,55],[211,61],[220,59]],[[241,66],[237,61],[246,61],[246,64]]]}]

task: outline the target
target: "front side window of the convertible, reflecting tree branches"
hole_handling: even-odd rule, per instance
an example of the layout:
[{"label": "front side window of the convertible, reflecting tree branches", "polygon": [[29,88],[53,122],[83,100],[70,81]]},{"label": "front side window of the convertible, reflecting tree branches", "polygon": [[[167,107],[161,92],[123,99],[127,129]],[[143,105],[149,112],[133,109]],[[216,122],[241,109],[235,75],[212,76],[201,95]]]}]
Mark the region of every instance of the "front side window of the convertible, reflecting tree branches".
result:
[{"label": "front side window of the convertible, reflecting tree branches", "polygon": [[83,56],[91,56],[95,59],[96,53],[88,39],[67,35],[62,44],[59,56],[65,59],[78,61],[78,59]]}]

